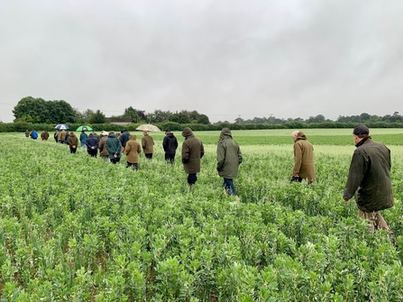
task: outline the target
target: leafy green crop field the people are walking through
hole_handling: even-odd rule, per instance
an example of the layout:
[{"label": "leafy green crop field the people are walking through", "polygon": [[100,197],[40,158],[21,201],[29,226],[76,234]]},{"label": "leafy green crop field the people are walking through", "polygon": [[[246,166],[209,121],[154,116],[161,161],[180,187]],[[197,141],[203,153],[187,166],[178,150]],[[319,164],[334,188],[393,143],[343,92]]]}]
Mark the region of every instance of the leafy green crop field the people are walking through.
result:
[{"label": "leafy green crop field the people are walking through", "polygon": [[352,130],[304,131],[311,186],[289,184],[291,133],[233,132],[241,203],[215,171],[219,132],[195,133],[206,155],[191,189],[179,132],[174,166],[151,133],[137,172],[0,133],[0,301],[402,301],[403,130],[371,131],[392,154],[395,206],[382,215],[398,247],[343,201]]}]

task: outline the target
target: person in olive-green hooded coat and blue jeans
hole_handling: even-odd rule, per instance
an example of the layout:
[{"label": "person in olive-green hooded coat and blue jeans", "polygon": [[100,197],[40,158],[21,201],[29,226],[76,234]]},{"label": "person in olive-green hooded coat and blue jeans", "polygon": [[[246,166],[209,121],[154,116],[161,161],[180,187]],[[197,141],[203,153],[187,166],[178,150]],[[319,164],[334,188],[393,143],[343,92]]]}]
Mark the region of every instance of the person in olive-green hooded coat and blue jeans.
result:
[{"label": "person in olive-green hooded coat and blue jeans", "polygon": [[243,155],[229,128],[223,128],[217,144],[217,172],[224,178],[223,188],[226,194],[241,201],[234,187],[234,178],[238,177],[239,165],[243,162]]}]

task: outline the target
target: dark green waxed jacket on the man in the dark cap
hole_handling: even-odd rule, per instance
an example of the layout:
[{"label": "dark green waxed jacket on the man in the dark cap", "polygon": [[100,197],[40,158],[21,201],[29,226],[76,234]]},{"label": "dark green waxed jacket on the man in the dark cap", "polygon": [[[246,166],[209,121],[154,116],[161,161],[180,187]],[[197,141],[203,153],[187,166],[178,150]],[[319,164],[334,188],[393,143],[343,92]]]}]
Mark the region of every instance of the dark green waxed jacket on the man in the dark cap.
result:
[{"label": "dark green waxed jacket on the man in the dark cap", "polygon": [[343,198],[349,200],[357,191],[355,201],[363,212],[392,207],[390,151],[383,143],[372,142],[369,136],[362,141],[356,144]]}]

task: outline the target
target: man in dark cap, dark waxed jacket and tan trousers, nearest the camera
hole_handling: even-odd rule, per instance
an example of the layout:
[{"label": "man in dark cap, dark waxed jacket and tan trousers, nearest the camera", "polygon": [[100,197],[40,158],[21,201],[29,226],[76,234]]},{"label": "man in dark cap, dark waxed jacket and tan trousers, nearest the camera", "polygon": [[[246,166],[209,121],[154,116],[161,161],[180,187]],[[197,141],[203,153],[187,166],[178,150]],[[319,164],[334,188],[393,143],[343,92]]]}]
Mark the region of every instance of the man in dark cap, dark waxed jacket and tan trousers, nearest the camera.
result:
[{"label": "man in dark cap, dark waxed jacket and tan trousers, nearest the camera", "polygon": [[344,188],[345,202],[355,194],[358,216],[367,219],[370,231],[386,230],[394,238],[381,210],[393,206],[393,191],[390,180],[390,151],[380,142],[373,142],[370,130],[358,125],[353,130],[355,149]]}]

